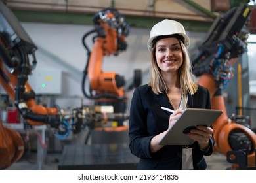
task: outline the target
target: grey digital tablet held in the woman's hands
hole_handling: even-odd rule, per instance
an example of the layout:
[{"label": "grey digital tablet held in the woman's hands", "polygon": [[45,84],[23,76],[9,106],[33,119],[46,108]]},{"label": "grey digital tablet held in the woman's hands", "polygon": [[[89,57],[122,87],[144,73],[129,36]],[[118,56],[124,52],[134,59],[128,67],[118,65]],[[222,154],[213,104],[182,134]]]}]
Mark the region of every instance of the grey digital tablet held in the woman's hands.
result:
[{"label": "grey digital tablet held in the woman's hands", "polygon": [[221,116],[223,110],[186,108],[177,122],[169,129],[161,139],[160,145],[191,145],[194,140],[190,139],[186,133],[197,125],[207,125],[208,127]]}]

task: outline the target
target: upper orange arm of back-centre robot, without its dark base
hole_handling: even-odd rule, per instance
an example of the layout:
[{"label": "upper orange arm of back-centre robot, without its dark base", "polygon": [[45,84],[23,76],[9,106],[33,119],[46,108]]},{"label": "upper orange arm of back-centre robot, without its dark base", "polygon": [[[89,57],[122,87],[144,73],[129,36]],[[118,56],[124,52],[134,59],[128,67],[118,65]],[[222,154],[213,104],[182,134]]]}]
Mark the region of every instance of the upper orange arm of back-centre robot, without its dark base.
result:
[{"label": "upper orange arm of back-centre robot, without its dark base", "polygon": [[[113,8],[107,8],[102,12],[95,14],[93,18],[95,29],[85,34],[83,45],[88,52],[88,61],[85,68],[85,77],[83,80],[83,93],[90,99],[111,98],[124,99],[125,92],[123,86],[124,78],[116,73],[104,73],[102,71],[102,61],[104,56],[114,55],[126,49],[125,37],[129,33],[129,25],[124,17]],[[85,38],[91,34],[97,33],[93,38],[94,45],[92,51],[85,43]],[[85,91],[85,78],[88,76],[90,85],[90,94]]]}]

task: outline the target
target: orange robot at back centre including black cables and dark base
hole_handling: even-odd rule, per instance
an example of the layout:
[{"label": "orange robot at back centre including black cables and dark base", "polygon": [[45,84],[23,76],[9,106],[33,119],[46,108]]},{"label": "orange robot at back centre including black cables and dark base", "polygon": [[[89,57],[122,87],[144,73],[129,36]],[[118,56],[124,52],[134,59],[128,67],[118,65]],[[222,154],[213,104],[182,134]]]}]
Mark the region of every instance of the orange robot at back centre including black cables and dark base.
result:
[{"label": "orange robot at back centre including black cables and dark base", "polygon": [[[83,94],[93,100],[93,105],[112,107],[112,112],[125,114],[127,105],[125,78],[114,72],[102,71],[102,65],[104,57],[117,56],[127,49],[126,37],[129,35],[129,24],[125,16],[115,8],[106,8],[97,12],[93,17],[93,24],[94,29],[85,33],[82,39],[88,56],[83,71]],[[87,46],[87,38],[91,35],[92,50]],[[141,71],[135,70],[134,82],[127,88],[140,84]],[[116,119],[115,129],[122,128],[124,120]]]}]

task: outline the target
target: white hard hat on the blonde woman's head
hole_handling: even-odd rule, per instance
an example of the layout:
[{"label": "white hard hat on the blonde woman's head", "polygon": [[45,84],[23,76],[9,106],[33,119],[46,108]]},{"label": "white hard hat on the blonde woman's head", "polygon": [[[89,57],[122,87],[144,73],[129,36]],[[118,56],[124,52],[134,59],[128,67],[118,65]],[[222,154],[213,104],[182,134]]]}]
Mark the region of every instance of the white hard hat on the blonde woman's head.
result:
[{"label": "white hard hat on the blonde woman's head", "polygon": [[165,36],[165,35],[181,35],[184,37],[184,45],[186,48],[189,47],[190,40],[188,35],[186,35],[186,31],[183,27],[183,25],[175,20],[162,20],[161,22],[158,22],[155,24],[151,31],[150,31],[150,39],[148,39],[148,50],[152,52],[153,50],[153,39],[158,36]]}]

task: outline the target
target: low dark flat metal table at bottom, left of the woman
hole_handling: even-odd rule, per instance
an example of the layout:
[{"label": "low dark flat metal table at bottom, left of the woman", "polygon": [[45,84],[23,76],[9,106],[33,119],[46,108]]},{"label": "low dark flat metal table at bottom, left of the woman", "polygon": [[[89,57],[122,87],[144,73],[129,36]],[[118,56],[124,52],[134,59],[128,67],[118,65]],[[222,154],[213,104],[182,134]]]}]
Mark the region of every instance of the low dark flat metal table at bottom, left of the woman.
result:
[{"label": "low dark flat metal table at bottom, left of the woman", "polygon": [[139,158],[131,154],[128,144],[66,145],[59,170],[136,169]]}]

